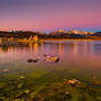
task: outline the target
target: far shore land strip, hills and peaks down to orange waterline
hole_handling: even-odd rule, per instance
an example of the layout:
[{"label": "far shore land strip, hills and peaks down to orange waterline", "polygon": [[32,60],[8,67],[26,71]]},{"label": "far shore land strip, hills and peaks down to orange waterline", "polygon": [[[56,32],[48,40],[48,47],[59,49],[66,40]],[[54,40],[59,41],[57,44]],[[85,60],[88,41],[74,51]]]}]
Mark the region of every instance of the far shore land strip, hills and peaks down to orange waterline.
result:
[{"label": "far shore land strip, hills and peaks down to orange waterline", "polygon": [[[85,34],[83,34],[85,33]],[[86,34],[88,33],[88,34]],[[0,31],[0,37],[4,40],[16,40],[22,38],[23,40],[30,40],[33,41],[33,37],[37,36],[37,38],[41,41],[101,41],[101,32],[81,32],[78,31],[70,31],[70,32],[52,32],[49,34],[44,32],[31,32],[31,31],[16,31],[16,32],[5,32]]]}]

